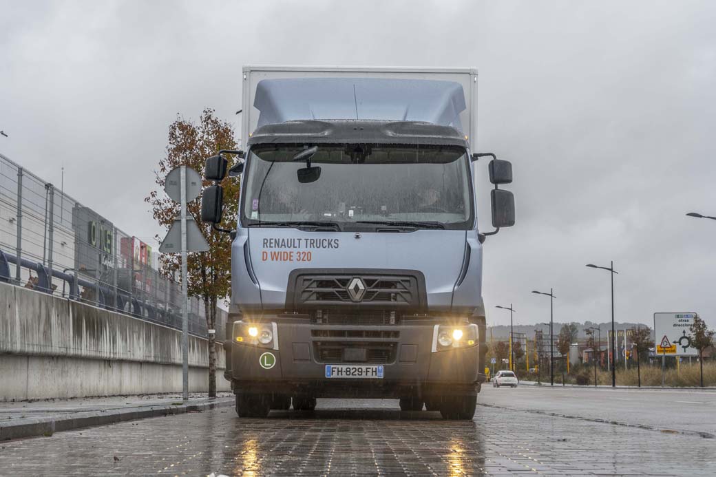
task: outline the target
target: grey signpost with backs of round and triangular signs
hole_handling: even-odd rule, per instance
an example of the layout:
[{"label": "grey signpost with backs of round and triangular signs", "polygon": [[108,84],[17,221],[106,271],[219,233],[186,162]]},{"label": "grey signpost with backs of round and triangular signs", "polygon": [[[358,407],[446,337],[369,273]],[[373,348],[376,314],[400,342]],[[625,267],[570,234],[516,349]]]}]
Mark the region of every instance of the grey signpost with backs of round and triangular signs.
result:
[{"label": "grey signpost with backs of round and triangular signs", "polygon": [[[201,234],[193,219],[188,220],[186,204],[193,201],[201,192],[201,176],[192,168],[180,165],[169,171],[164,183],[164,191],[173,201],[180,203],[179,220],[170,226],[159,251],[163,254],[180,252],[181,254],[181,316],[182,316],[182,398],[189,400],[189,294],[187,285],[189,251],[208,251],[209,244]],[[178,227],[177,227],[178,224]],[[178,238],[178,240],[177,240]],[[177,242],[179,242],[177,244]]]}]

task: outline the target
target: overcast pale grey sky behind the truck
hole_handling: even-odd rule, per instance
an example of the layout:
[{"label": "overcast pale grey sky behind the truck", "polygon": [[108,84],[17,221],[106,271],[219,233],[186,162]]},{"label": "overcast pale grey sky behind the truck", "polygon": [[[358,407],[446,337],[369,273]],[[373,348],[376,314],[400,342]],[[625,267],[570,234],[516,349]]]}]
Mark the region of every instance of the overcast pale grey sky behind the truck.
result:
[{"label": "overcast pale grey sky behind the truck", "polygon": [[716,216],[715,25],[709,1],[2,0],[0,153],[147,239],[168,125],[212,107],[238,135],[243,64],[474,66],[475,149],[513,161],[518,207],[488,322],[548,320],[550,287],[556,321],[607,321],[584,265],[614,260],[618,321],[716,327],[716,221],[684,216]]}]

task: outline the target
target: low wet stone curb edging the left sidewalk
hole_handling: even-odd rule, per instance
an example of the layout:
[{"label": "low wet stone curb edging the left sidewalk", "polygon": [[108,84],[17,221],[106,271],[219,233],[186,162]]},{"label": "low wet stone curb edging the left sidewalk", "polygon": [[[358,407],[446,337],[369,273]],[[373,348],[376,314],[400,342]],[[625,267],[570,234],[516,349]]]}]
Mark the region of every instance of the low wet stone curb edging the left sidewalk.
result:
[{"label": "low wet stone curb edging the left sidewalk", "polygon": [[207,403],[189,403],[182,405],[151,405],[137,408],[87,411],[53,418],[21,418],[17,422],[0,423],[0,441],[21,439],[44,435],[49,437],[63,430],[88,428],[95,425],[120,423],[127,420],[157,418],[165,415],[202,412],[214,408],[233,406],[231,398],[219,398]]}]

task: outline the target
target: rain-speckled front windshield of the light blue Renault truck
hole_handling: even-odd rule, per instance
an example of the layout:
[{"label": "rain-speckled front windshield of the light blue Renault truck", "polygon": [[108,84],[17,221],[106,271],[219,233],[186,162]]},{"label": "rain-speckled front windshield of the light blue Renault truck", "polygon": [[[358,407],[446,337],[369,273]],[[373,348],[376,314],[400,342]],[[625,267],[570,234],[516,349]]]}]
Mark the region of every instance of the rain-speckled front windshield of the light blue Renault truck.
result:
[{"label": "rain-speckled front windshield of the light blue Renault truck", "polygon": [[[313,155],[294,160],[304,150],[306,145],[251,149],[243,225],[472,228],[470,168],[463,148],[322,144]],[[308,180],[306,156],[312,168]]]}]

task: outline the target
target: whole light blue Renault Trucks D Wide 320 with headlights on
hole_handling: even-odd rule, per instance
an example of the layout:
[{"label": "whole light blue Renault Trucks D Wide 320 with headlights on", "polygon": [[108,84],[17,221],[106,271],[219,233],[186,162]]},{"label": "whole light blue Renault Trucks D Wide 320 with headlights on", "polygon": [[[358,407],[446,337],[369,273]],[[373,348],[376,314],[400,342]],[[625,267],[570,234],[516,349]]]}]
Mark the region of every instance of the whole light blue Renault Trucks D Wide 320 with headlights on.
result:
[{"label": "whole light blue Renault Trucks D Wide 320 with headlights on", "polygon": [[240,156],[225,341],[237,413],[374,397],[471,419],[485,380],[482,244],[514,223],[514,203],[498,188],[511,165],[489,154],[495,230],[480,232],[485,155],[462,130],[463,85],[436,70],[274,67],[252,87],[255,71],[246,151],[207,161],[217,183],[202,203],[221,222],[225,155]]}]

